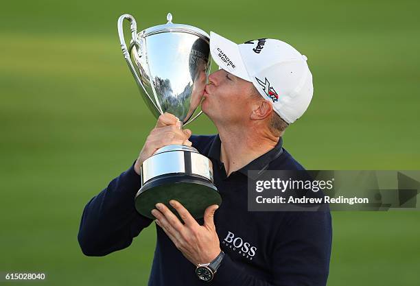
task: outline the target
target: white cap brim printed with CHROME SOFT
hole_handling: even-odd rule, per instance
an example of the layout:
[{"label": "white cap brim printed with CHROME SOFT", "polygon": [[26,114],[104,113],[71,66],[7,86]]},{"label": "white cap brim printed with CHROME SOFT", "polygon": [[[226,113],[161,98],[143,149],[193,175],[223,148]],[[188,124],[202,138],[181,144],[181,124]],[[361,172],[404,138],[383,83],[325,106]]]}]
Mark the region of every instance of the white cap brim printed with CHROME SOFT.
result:
[{"label": "white cap brim printed with CHROME SOFT", "polygon": [[236,43],[223,38],[215,32],[210,32],[210,53],[211,58],[221,69],[232,73],[238,78],[242,78],[242,80],[252,82]]}]

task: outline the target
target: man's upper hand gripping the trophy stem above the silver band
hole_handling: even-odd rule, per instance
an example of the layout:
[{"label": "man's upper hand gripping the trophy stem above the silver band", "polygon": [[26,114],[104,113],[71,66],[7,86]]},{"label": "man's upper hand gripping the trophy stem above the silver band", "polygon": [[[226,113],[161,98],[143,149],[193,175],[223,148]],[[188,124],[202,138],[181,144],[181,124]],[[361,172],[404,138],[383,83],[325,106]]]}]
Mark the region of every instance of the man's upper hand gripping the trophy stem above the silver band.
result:
[{"label": "man's upper hand gripping the trophy stem above the silver band", "polygon": [[181,122],[175,115],[165,112],[159,116],[156,126],[150,132],[143,149],[141,149],[139,158],[136,160],[135,171],[137,174],[140,174],[141,164],[159,148],[171,144],[192,145],[191,141],[188,140],[191,136],[191,130],[181,130],[180,126]]}]

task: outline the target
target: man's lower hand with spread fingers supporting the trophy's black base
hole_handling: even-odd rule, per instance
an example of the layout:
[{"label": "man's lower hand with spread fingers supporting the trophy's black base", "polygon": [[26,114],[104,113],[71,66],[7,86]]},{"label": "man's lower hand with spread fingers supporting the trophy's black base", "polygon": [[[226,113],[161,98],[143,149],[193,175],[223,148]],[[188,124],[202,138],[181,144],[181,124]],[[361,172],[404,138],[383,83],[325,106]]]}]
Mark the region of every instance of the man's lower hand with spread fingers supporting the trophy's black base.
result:
[{"label": "man's lower hand with spread fingers supporting the trophy's black base", "polygon": [[180,202],[171,200],[170,204],[176,209],[185,224],[180,222],[165,204],[161,203],[156,204],[157,209],[152,210],[152,215],[156,217],[156,224],[165,231],[176,248],[194,265],[213,261],[221,251],[213,221],[218,205],[213,204],[206,208],[204,224],[200,226]]}]

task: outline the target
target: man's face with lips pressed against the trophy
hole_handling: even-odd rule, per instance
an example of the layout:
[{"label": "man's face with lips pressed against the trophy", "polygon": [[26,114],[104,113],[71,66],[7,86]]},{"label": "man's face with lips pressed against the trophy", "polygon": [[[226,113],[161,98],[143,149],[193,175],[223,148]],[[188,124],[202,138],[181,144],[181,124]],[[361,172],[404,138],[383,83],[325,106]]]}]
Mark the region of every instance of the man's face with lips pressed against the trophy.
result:
[{"label": "man's face with lips pressed against the trophy", "polygon": [[253,84],[220,69],[209,75],[202,112],[214,123],[246,122],[252,112]]}]

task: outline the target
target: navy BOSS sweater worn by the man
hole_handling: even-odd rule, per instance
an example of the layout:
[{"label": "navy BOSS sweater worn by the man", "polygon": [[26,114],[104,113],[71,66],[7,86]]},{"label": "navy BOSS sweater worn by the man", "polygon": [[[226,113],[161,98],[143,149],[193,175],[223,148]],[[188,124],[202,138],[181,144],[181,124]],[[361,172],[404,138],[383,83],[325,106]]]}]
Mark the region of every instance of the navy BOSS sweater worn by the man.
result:
[{"label": "navy BOSS sweater worn by the man", "polygon": [[[248,170],[303,169],[283,149],[282,140],[229,177],[220,162],[219,136],[191,136],[190,141],[212,160],[214,182],[222,196],[214,222],[226,255],[209,285],[326,285],[331,253],[329,212],[247,210]],[[103,256],[126,248],[152,223],[135,210],[139,187],[139,175],[131,166],[86,204],[78,235],[84,254]],[[202,224],[202,219],[198,223]],[[149,285],[204,285],[196,277],[196,266],[183,257],[159,226],[156,233]]]}]

